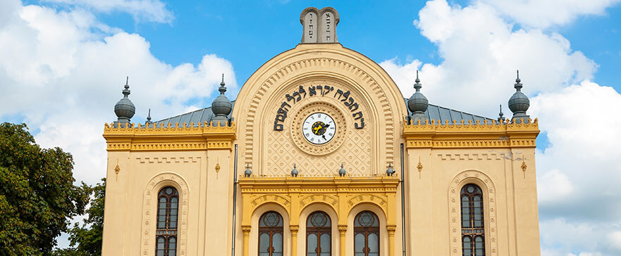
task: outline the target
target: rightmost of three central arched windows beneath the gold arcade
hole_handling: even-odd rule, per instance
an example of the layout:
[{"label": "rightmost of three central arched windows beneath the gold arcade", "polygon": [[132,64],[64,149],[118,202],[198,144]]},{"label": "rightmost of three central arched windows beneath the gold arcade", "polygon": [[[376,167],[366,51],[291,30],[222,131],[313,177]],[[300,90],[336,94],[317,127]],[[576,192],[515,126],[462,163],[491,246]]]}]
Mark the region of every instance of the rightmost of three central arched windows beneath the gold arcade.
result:
[{"label": "rightmost of three central arched windows beneath the gold arcade", "polygon": [[354,219],[354,255],[379,255],[379,219],[373,212],[360,212]]}]

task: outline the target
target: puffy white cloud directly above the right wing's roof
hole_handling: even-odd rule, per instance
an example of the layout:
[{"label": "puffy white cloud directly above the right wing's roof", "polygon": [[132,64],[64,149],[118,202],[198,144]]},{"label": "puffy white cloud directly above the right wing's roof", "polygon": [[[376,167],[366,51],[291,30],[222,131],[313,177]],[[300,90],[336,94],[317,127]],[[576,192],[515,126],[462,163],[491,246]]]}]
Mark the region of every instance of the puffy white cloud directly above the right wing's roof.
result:
[{"label": "puffy white cloud directly above the right wing's roof", "polygon": [[[448,108],[495,117],[498,104],[505,105],[515,91],[512,84],[517,69],[523,91],[530,96],[591,79],[596,70],[596,64],[572,51],[570,42],[560,34],[514,30],[486,4],[462,8],[444,0],[428,1],[414,24],[438,46],[443,58],[439,65],[422,65],[422,92],[431,103]],[[419,60],[400,65],[393,59],[381,65],[398,77],[395,82],[409,97]]]}]

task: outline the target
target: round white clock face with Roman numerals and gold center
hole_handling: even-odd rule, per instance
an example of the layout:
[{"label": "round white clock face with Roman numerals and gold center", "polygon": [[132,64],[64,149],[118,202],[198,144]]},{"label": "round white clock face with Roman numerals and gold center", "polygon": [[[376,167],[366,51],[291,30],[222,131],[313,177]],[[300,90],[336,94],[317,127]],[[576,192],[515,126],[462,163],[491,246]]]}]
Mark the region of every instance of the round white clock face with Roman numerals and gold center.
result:
[{"label": "round white clock face with Roman numerals and gold center", "polygon": [[314,145],[328,143],[336,134],[336,122],[326,113],[312,113],[302,124],[304,138]]}]

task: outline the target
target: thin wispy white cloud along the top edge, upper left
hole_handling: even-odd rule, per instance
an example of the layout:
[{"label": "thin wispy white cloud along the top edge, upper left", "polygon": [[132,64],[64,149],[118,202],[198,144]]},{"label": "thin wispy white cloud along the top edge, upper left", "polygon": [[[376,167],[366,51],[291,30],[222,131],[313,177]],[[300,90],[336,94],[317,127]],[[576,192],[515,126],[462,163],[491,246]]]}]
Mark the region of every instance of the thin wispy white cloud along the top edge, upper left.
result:
[{"label": "thin wispy white cloud along the top edge, upper left", "polygon": [[79,6],[92,11],[129,13],[136,21],[171,23],[173,13],[159,0],[44,0],[57,4]]}]

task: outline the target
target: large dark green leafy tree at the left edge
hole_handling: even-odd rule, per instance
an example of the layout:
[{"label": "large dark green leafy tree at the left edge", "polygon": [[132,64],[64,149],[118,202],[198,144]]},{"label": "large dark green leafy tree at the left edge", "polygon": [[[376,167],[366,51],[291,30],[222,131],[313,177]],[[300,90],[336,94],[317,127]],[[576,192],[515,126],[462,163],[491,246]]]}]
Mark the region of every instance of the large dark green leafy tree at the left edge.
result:
[{"label": "large dark green leafy tree at the left edge", "polygon": [[0,124],[0,255],[51,255],[88,202],[72,170],[71,154],[40,148],[26,124]]}]

